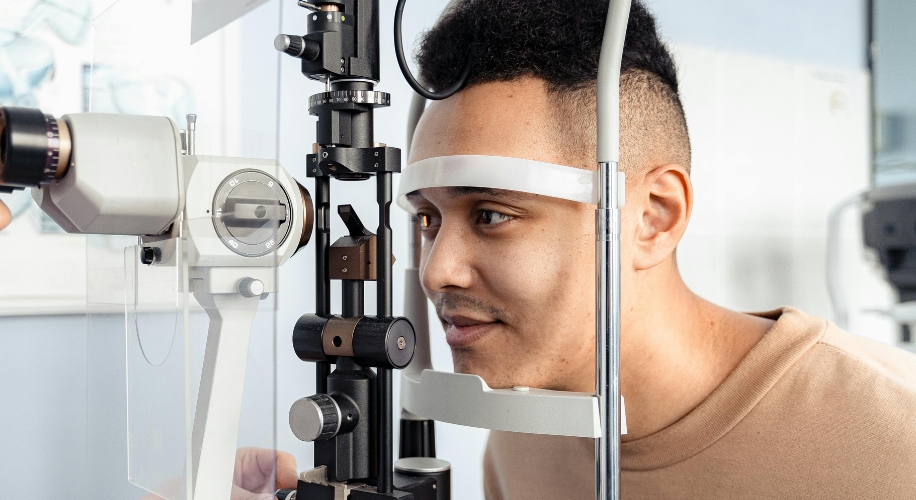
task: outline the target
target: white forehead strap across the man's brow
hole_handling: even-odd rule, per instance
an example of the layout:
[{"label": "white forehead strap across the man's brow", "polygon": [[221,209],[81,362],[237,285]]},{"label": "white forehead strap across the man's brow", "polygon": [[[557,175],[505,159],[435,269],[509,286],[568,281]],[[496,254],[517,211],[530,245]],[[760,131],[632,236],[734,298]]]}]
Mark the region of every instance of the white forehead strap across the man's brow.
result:
[{"label": "white forehead strap across the man's brow", "polygon": [[439,156],[411,163],[401,171],[397,202],[414,213],[407,194],[432,187],[479,187],[539,194],[551,198],[598,203],[598,174],[504,156]]}]

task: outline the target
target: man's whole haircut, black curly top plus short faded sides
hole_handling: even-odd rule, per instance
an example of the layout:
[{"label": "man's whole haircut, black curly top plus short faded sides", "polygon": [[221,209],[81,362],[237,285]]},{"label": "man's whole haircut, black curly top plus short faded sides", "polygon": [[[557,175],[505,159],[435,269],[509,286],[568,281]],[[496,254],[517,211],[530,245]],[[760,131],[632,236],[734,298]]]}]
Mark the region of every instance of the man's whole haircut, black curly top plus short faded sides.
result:
[{"label": "man's whole haircut, black curly top plus short faded sides", "polygon": [[[535,77],[546,83],[555,138],[570,164],[596,168],[595,90],[608,0],[463,0],[426,32],[420,75],[450,87]],[[690,139],[677,71],[655,19],[634,0],[620,78],[620,167],[628,174],[676,163],[690,170]]]}]

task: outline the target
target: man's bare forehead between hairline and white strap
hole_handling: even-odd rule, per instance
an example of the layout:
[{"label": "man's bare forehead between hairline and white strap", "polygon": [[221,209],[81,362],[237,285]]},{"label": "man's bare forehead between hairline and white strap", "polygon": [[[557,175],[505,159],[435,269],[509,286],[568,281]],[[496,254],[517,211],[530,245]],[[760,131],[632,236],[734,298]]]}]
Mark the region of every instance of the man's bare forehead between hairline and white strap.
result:
[{"label": "man's bare forehead between hairline and white strap", "polygon": [[489,155],[565,164],[555,123],[541,80],[474,85],[430,104],[417,126],[409,163]]}]

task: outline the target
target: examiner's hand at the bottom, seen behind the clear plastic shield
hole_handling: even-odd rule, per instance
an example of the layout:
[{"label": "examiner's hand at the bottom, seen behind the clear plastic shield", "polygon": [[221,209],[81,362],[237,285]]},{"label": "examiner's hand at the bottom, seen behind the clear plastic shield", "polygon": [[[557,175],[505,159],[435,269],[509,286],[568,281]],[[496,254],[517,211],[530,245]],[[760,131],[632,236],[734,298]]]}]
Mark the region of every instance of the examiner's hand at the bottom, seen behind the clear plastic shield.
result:
[{"label": "examiner's hand at the bottom, seen behind the clear plastic shield", "polygon": [[[275,465],[276,484],[273,481]],[[276,490],[293,489],[298,482],[296,459],[289,453],[263,448],[242,448],[235,454],[232,496],[229,500],[273,500]],[[166,488],[168,489],[170,488]],[[162,500],[162,497],[150,493],[140,500]]]}]

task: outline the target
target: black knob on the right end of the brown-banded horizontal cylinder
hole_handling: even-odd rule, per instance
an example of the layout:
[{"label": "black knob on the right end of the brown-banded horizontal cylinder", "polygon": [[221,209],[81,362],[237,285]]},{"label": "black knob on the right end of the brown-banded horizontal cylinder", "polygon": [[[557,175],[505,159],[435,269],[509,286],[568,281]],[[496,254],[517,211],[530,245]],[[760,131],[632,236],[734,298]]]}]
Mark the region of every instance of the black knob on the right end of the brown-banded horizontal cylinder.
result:
[{"label": "black knob on the right end of the brown-banded horizontal cylinder", "polygon": [[353,333],[353,353],[363,366],[404,368],[416,347],[417,336],[407,318],[366,316]]}]

